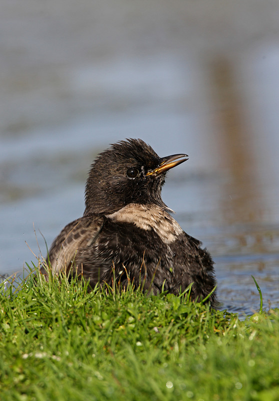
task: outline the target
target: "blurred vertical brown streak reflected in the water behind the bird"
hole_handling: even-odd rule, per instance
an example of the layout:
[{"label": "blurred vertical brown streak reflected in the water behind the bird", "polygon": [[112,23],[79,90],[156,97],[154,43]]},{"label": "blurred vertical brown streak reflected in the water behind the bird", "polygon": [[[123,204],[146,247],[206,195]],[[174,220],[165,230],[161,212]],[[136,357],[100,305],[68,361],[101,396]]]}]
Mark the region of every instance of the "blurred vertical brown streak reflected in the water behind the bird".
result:
[{"label": "blurred vertical brown streak reflected in the water behind the bird", "polygon": [[[227,223],[259,222],[260,182],[255,174],[252,132],[247,122],[243,88],[230,60],[217,57],[211,65],[216,142],[222,167],[231,180],[222,186],[221,210]],[[230,201],[231,199],[231,201]]]}]

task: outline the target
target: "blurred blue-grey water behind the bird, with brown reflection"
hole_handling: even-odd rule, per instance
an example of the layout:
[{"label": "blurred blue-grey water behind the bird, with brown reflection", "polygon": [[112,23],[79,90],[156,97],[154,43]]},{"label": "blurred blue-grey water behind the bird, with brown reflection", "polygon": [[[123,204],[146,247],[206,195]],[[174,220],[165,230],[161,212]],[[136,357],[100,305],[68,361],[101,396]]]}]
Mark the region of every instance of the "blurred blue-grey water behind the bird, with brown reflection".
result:
[{"label": "blurred blue-grey water behind the bird, with brown reflection", "polygon": [[212,254],[222,308],[258,309],[251,275],[278,307],[278,15],[275,0],[4,0],[0,273],[83,214],[99,151],[139,137],[189,155],[163,199]]}]

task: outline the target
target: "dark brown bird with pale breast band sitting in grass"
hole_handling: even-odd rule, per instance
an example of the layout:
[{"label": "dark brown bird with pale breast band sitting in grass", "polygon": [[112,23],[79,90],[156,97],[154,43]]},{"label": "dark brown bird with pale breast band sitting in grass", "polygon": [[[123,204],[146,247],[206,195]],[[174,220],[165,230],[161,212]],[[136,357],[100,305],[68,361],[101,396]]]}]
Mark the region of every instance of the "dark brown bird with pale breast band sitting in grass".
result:
[{"label": "dark brown bird with pale breast band sitting in grass", "polygon": [[213,261],[186,234],[161,198],[166,172],[186,154],[159,157],[141,139],[111,144],[91,164],[82,217],[53,241],[41,273],[83,277],[97,284],[129,283],[154,295],[181,294],[215,305]]}]

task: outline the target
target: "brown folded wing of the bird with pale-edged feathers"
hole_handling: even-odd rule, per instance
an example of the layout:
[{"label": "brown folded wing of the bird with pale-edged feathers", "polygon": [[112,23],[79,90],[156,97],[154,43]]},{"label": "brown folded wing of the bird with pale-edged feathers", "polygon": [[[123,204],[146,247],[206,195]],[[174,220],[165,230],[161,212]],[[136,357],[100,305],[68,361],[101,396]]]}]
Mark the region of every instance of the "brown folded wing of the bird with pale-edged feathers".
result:
[{"label": "brown folded wing of the bird with pale-edged feathers", "polygon": [[46,258],[52,273],[66,271],[74,263],[77,251],[94,243],[102,226],[102,217],[95,215],[81,217],[65,226],[53,241]]}]

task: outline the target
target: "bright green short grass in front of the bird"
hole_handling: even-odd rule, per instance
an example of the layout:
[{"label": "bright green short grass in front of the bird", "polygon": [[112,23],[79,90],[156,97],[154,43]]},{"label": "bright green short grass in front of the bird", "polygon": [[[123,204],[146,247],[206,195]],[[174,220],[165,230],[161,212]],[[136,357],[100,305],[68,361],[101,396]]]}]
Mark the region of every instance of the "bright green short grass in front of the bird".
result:
[{"label": "bright green short grass in front of the bird", "polygon": [[279,310],[32,276],[0,289],[0,400],[279,400]]}]

